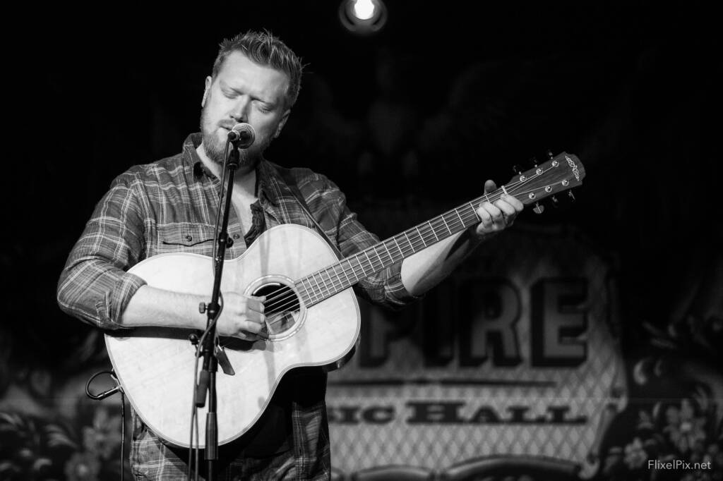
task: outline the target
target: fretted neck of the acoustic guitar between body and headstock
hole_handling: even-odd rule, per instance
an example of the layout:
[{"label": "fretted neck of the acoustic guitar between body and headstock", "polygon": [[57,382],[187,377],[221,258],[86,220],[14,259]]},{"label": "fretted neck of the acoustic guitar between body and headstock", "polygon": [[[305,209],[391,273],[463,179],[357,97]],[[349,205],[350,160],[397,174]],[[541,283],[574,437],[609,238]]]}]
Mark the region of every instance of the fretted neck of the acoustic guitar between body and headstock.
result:
[{"label": "fretted neck of the acoustic guitar between body and headstock", "polygon": [[301,278],[296,281],[296,288],[307,306],[320,303],[355,285],[360,280],[432,246],[432,244],[476,225],[479,223],[479,217],[474,206],[479,206],[480,202],[486,200],[495,202],[500,199],[502,194],[504,194],[503,188],[497,189],[495,192],[471,200],[427,222],[415,225],[401,234],[366,248],[326,269]]}]

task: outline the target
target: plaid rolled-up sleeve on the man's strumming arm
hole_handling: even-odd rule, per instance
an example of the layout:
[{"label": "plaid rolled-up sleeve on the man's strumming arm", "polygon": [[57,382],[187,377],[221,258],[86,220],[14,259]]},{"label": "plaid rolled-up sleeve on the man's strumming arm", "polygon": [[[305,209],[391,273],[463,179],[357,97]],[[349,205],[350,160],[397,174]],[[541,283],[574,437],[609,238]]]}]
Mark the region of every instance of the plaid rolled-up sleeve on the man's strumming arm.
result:
[{"label": "plaid rolled-up sleeve on the man's strumming arm", "polygon": [[145,253],[140,189],[132,174],[116,178],[95,206],[58,282],[61,310],[103,329],[121,327],[120,317],[145,285],[127,272]]}]

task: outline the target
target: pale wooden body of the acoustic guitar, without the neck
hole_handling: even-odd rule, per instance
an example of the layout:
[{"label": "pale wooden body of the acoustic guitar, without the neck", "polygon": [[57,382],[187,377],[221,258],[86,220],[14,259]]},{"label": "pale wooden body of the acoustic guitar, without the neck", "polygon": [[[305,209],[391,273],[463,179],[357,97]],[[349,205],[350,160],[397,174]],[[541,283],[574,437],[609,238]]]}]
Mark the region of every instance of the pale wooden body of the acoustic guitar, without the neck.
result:
[{"label": "pale wooden body of the acoustic guitar, without the neck", "polygon": [[[254,295],[279,285],[294,287],[294,280],[336,261],[330,246],[314,231],[300,225],[279,225],[260,235],[242,256],[224,263],[221,292]],[[129,272],[150,286],[208,295],[210,300],[210,257],[160,254]],[[221,338],[235,375],[219,369],[216,376],[219,444],[233,441],[254,425],[286,372],[303,366],[331,370],[341,367],[354,353],[360,319],[351,288],[310,307],[304,306],[301,298],[303,295],[298,297],[298,309],[284,321],[291,327],[280,329],[269,340]],[[196,315],[206,318],[206,314]],[[111,363],[137,415],[158,436],[183,447],[189,445],[194,392],[195,347],[188,340],[192,332],[142,327],[106,334]],[[199,410],[201,423],[206,412],[206,408]],[[199,441],[204,447],[203,429]]]}]

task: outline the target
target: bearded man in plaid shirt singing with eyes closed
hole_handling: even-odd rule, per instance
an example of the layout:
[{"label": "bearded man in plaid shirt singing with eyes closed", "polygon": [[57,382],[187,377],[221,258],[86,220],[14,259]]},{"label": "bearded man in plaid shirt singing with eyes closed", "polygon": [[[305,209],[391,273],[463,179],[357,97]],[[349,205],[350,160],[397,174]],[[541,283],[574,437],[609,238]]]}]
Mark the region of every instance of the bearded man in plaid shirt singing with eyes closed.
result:
[{"label": "bearded man in plaid shirt singing with eyes closed", "polygon": [[[328,178],[306,168],[284,169],[263,157],[299,95],[301,70],[299,57],[268,32],[247,32],[221,43],[205,79],[200,134],[189,135],[179,154],[136,165],[113,181],[61,274],[58,302],[63,311],[101,329],[205,329],[207,319],[198,306],[208,300],[208,293],[162,290],[127,271],[166,252],[212,255],[224,150],[236,123],[249,123],[256,139],[239,152],[228,222],[234,242],[226,259],[244,254],[275,225],[317,229],[307,210],[345,257],[378,243]],[[289,185],[289,179],[295,185]],[[496,187],[487,181],[484,188],[490,192]],[[444,279],[490,234],[512,224],[522,208],[518,199],[507,195],[494,204],[483,202],[476,209],[479,224],[474,228],[361,280],[354,287],[356,294],[391,308],[411,302]],[[265,337],[262,298],[224,292],[217,331],[248,341]],[[320,368],[301,368],[284,376],[254,427],[221,446],[219,479],[329,479],[325,390],[326,375]],[[136,479],[183,479],[188,470],[184,453],[134,413],[131,464]]]}]

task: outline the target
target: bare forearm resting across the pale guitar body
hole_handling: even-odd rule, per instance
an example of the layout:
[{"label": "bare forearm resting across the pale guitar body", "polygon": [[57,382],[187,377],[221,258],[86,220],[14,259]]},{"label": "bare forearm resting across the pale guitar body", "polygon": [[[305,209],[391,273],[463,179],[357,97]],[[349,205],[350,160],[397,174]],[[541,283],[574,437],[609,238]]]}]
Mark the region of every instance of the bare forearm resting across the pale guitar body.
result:
[{"label": "bare forearm resting across the pale guitar body", "polygon": [[129,300],[121,315],[121,324],[124,327],[205,329],[206,315],[198,312],[198,305],[203,300],[202,295],[174,293],[144,285]]}]

